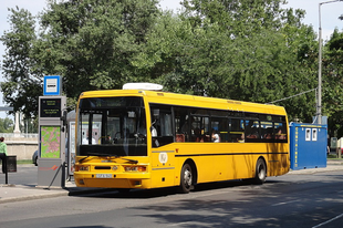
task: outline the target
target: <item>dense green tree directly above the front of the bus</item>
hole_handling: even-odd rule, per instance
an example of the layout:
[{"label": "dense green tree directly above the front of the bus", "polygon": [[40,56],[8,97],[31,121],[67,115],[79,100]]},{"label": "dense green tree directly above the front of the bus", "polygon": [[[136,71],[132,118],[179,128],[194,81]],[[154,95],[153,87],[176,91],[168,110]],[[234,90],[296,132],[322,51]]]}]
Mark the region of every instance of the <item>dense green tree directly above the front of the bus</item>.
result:
[{"label": "dense green tree directly above the front of the bus", "polygon": [[[131,59],[144,45],[158,14],[156,0],[50,1],[42,15],[44,33],[37,56],[41,69],[63,75],[64,92],[76,99],[85,90],[119,89],[135,81]],[[76,86],[75,86],[76,83]]]}]

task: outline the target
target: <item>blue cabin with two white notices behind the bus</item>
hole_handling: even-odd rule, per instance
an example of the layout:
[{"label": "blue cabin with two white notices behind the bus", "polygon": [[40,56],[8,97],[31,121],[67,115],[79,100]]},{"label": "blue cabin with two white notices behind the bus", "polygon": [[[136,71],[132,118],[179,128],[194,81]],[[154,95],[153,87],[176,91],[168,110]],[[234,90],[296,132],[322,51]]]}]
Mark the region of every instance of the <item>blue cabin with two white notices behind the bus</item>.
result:
[{"label": "blue cabin with two white notices behind the bus", "polygon": [[290,123],[291,169],[326,167],[328,125]]}]

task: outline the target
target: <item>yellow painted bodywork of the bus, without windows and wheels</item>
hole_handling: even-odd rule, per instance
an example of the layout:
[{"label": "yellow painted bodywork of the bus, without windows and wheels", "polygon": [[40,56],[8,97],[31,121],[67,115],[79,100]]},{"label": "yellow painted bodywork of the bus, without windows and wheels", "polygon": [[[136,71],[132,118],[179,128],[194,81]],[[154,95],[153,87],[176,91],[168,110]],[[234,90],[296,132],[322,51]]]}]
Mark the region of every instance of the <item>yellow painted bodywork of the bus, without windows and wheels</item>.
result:
[{"label": "yellow painted bodywork of the bus, without windows and wheels", "polygon": [[[266,113],[272,115],[284,115],[287,117],[285,111],[281,106],[166,92],[139,90],[93,91],[82,93],[80,99],[111,96],[143,96],[147,123],[152,123],[149,114],[150,103],[224,111]],[[149,127],[150,126],[147,125],[147,128]],[[84,159],[82,164],[80,164],[77,160],[84,156],[77,156],[74,172],[75,184],[79,187],[108,188],[159,188],[178,186],[180,182],[181,167],[186,160],[191,162],[195,165],[194,175],[197,177],[197,183],[253,178],[256,173],[256,164],[260,157],[262,157],[266,162],[268,176],[283,175],[290,169],[289,143],[194,142],[172,143],[158,148],[153,148],[150,139],[152,135],[149,131],[147,133],[147,138],[149,138],[147,142],[148,156],[125,157],[138,160],[137,166],[146,166],[146,172],[125,172],[124,167],[132,164],[128,164],[121,158],[105,159],[90,156]],[[163,163],[160,160],[163,160]],[[105,165],[111,166],[111,169],[94,169],[95,166]],[[79,170],[80,166],[90,166],[90,169]],[[113,166],[117,166],[117,169],[113,170]],[[96,174],[101,173],[111,173],[112,177],[96,178]]]}]

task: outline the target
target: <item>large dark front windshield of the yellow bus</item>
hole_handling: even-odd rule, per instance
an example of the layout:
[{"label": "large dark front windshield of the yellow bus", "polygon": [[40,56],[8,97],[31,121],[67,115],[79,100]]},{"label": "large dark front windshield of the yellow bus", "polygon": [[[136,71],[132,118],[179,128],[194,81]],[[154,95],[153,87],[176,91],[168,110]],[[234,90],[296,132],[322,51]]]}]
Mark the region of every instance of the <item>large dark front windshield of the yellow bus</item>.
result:
[{"label": "large dark front windshield of the yellow bus", "polygon": [[92,97],[79,104],[79,156],[147,156],[143,97]]}]

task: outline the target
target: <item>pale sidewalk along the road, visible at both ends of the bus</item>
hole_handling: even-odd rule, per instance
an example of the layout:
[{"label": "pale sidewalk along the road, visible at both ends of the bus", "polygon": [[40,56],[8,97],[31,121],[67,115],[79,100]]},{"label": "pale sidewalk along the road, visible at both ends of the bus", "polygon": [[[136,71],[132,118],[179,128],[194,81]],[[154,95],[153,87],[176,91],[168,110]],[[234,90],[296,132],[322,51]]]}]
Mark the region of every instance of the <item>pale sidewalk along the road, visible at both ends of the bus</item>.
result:
[{"label": "pale sidewalk along the road, visible at both ends of the bus", "polygon": [[[291,170],[287,175],[314,174],[320,172],[343,170],[342,160],[328,160],[326,168],[311,168]],[[66,182],[65,188],[51,187],[50,189],[28,187],[24,185],[0,185],[0,204],[23,201],[31,199],[52,198],[59,196],[76,196],[91,193],[106,191],[105,188],[77,188],[74,182]]]}]

